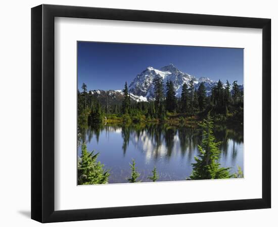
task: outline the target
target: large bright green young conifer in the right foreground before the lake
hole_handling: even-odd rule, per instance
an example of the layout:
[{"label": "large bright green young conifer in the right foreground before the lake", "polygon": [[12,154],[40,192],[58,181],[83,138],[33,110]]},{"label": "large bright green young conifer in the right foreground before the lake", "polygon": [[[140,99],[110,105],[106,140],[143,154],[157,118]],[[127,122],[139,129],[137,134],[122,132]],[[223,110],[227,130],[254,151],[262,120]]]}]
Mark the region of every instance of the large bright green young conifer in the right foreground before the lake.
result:
[{"label": "large bright green young conifer in the right foreground before the lake", "polygon": [[194,157],[196,163],[192,163],[193,171],[190,176],[191,180],[204,179],[224,179],[230,178],[229,168],[221,167],[218,162],[220,142],[214,142],[215,138],[212,133],[213,122],[208,113],[207,119],[204,119],[200,126],[203,129],[202,145],[198,145],[199,157]]}]

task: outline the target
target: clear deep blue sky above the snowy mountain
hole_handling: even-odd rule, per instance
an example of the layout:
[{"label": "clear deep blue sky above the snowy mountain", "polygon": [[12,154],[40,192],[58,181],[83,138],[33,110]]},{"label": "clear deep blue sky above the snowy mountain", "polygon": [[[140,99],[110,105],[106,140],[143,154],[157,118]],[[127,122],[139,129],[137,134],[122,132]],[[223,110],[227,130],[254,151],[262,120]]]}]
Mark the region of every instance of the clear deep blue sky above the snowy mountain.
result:
[{"label": "clear deep blue sky above the snowy mountain", "polygon": [[78,89],[123,89],[147,67],[172,63],[197,78],[243,84],[243,49],[78,41]]}]

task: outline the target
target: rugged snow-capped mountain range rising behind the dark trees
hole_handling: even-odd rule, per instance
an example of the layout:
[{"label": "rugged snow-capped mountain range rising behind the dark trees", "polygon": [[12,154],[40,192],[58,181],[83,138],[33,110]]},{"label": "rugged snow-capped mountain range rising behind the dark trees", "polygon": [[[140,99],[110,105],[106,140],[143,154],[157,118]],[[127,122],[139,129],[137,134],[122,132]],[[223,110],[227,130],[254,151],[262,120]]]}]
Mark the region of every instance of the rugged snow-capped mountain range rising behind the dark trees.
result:
[{"label": "rugged snow-capped mountain range rising behind the dark trees", "polygon": [[[166,92],[166,82],[172,81],[176,96],[180,97],[182,85],[193,80],[195,89],[198,89],[200,84],[203,82],[206,88],[207,95],[210,95],[211,89],[217,84],[217,81],[212,81],[207,77],[196,78],[188,73],[183,73],[177,69],[173,64],[162,67],[160,70],[153,67],[148,67],[141,74],[138,74],[129,85],[130,97],[135,101],[148,101],[154,98],[154,79],[161,77],[164,84],[164,91]],[[230,81],[232,83],[233,81]],[[224,81],[223,81],[224,83]],[[223,84],[226,87],[226,84]],[[243,85],[239,85],[240,89],[243,90]],[[231,90],[231,92],[233,92]],[[111,99],[119,100],[123,97],[122,90],[94,90],[93,94],[107,99],[110,96]]]}]

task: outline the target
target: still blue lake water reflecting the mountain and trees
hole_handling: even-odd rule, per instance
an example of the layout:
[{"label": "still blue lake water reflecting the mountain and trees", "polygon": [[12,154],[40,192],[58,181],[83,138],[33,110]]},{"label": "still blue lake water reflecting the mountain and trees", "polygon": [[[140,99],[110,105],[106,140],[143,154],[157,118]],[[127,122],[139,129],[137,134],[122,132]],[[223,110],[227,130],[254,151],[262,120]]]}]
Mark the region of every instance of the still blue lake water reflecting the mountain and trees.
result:
[{"label": "still blue lake water reflecting the mountain and trees", "polygon": [[[186,180],[191,175],[194,156],[199,154],[202,142],[199,128],[167,125],[102,125],[82,129],[80,142],[87,144],[88,151],[99,152],[98,161],[110,169],[109,183],[127,183],[130,176],[129,163],[136,162],[139,180],[149,182],[154,166],[159,173],[158,181]],[[231,167],[230,173],[243,166],[243,128],[215,127],[215,141],[221,141],[219,162]],[[81,147],[78,147],[78,156]]]}]

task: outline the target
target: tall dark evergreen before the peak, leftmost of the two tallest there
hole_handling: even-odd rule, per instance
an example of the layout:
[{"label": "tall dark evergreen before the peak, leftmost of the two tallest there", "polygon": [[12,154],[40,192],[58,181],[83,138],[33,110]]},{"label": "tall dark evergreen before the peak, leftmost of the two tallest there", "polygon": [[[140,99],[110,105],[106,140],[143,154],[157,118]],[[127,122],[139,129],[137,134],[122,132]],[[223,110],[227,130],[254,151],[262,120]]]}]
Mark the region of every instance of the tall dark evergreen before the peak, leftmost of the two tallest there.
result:
[{"label": "tall dark evergreen before the peak, leftmost of the two tallest there", "polygon": [[163,94],[163,81],[162,78],[157,76],[154,79],[154,87],[155,87],[155,107],[157,117],[163,121],[164,119],[164,94]]}]

